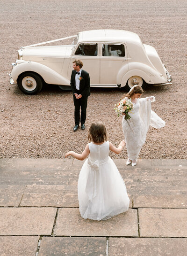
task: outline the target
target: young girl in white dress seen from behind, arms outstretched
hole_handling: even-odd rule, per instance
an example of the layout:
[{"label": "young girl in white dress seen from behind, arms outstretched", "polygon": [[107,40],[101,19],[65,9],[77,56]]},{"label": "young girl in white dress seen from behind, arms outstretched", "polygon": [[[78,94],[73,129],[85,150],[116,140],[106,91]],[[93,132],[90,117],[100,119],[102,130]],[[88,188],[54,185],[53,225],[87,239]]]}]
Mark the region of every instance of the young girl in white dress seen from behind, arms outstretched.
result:
[{"label": "young girl in white dress seen from behind, arms outstretched", "polygon": [[116,148],[107,141],[104,124],[92,123],[87,144],[82,154],[74,151],[66,153],[78,160],[84,160],[79,173],[78,200],[79,211],[83,218],[106,220],[129,209],[129,197],[126,186],[115,163],[108,156],[109,150],[119,154],[125,145],[121,141]]}]

